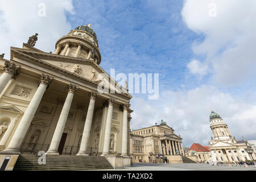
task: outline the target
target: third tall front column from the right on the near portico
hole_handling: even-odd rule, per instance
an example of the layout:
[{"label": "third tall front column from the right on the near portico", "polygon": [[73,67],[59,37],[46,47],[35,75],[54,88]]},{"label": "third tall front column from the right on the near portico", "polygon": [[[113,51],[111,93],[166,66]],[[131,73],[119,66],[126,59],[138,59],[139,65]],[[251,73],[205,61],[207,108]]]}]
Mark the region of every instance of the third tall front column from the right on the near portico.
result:
[{"label": "third tall front column from the right on the near portico", "polygon": [[84,131],[82,133],[82,140],[80,145],[80,150],[77,155],[89,155],[86,153],[88,147],[88,141],[90,137],[90,127],[92,126],[92,119],[93,119],[93,110],[95,105],[96,97],[98,93],[91,92],[90,96],[90,103],[88,107],[88,111],[86,114],[85,124],[84,124]]}]

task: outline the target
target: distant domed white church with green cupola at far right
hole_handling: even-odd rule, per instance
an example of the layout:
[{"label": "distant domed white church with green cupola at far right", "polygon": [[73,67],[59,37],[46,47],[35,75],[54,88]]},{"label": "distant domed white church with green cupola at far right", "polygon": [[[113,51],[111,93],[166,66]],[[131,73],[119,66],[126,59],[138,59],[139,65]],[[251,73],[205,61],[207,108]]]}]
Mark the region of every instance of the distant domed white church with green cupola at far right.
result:
[{"label": "distant domed white church with green cupola at far right", "polygon": [[209,142],[209,148],[213,163],[238,163],[253,160],[247,153],[251,149],[250,144],[243,138],[238,141],[229,132],[228,125],[219,114],[210,113],[210,129],[213,137]]}]

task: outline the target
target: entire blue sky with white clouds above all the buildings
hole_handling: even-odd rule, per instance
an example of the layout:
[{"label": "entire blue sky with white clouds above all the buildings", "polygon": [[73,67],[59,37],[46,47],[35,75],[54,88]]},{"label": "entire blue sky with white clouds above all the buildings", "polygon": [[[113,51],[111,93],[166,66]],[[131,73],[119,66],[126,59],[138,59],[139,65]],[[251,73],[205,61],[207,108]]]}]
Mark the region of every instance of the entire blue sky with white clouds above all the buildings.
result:
[{"label": "entire blue sky with white clouds above all the buildings", "polygon": [[35,47],[54,51],[90,23],[106,72],[159,73],[158,100],[132,93],[132,129],[163,119],[184,146],[207,145],[213,108],[233,136],[256,139],[255,9],[254,0],[0,0],[0,53],[9,59],[35,32]]}]

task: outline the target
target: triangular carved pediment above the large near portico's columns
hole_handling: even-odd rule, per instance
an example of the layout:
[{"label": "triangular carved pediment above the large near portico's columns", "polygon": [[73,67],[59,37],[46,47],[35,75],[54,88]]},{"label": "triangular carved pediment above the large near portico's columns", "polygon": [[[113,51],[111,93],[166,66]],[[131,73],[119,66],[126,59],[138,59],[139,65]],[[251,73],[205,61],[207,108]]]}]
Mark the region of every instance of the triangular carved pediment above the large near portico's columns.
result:
[{"label": "triangular carved pediment above the large near portico's columns", "polygon": [[131,95],[127,90],[122,88],[114,78],[110,77],[110,75],[108,75],[100,65],[94,63],[93,60],[11,47],[11,59],[13,59],[15,53],[20,53],[22,56],[27,56],[29,59],[32,58],[34,61],[49,69],[55,69],[58,73],[80,77],[95,85],[104,85],[105,88],[116,88],[120,91],[123,90],[123,92],[125,92],[124,94],[131,98]]}]

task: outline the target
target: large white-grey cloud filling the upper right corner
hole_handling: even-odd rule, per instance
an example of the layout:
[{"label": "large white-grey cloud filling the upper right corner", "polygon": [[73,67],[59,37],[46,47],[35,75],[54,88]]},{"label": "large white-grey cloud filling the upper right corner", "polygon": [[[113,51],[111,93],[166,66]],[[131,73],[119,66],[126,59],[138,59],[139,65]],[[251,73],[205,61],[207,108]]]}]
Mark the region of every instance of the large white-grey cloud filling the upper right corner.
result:
[{"label": "large white-grey cloud filling the upper right corner", "polygon": [[[209,15],[209,4],[216,5],[216,16]],[[181,15],[188,28],[203,34],[193,51],[213,65],[213,81],[241,85],[255,77],[256,1],[187,0]],[[211,71],[211,70],[209,70]]]}]

